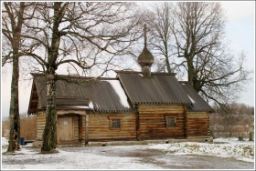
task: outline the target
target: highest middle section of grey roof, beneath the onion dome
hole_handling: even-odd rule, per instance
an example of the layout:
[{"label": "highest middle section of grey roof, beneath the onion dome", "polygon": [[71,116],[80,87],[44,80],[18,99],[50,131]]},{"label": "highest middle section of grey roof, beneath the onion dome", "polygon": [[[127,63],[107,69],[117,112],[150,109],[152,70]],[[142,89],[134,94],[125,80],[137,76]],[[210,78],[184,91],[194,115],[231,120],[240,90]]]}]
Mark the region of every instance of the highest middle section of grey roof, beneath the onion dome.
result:
[{"label": "highest middle section of grey roof, beneath the onion dome", "polygon": [[117,71],[123,88],[134,104],[191,104],[176,74]]}]

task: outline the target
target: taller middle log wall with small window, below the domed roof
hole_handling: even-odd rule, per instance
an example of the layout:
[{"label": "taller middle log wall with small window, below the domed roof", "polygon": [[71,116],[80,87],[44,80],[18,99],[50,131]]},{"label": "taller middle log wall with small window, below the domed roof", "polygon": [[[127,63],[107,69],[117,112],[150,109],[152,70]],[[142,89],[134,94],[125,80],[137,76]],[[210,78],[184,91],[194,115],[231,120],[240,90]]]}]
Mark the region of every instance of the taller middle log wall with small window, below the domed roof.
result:
[{"label": "taller middle log wall with small window, below the domed roof", "polygon": [[[185,137],[184,106],[139,105],[139,139]],[[176,119],[176,126],[166,126],[166,116]]]}]

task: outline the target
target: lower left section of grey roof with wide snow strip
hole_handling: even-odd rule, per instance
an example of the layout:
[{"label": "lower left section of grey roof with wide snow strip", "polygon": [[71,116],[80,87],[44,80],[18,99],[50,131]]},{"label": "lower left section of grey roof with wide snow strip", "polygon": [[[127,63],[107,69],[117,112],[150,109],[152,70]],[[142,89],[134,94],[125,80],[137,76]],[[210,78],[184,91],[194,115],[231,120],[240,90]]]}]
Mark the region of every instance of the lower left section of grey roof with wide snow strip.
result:
[{"label": "lower left section of grey roof with wide snow strip", "polygon": [[[93,109],[98,112],[126,112],[133,109],[117,79],[92,79],[63,77],[56,82],[56,103],[58,106],[73,106]],[[46,77],[34,75],[37,96],[42,108],[47,106]],[[30,100],[31,101],[31,100]]]}]

